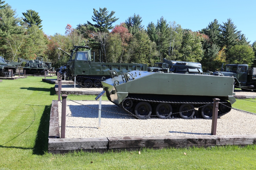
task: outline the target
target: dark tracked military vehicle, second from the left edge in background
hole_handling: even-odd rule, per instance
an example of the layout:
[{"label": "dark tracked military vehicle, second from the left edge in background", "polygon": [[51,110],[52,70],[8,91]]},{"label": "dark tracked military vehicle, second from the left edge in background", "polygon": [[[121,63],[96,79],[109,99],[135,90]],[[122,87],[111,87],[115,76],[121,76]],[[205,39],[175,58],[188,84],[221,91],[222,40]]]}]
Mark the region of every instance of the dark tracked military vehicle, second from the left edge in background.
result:
[{"label": "dark tracked military vehicle, second from the left edge in background", "polygon": [[23,58],[18,58],[21,62],[26,62],[23,67],[23,71],[26,70],[26,74],[41,74],[44,75],[45,71],[52,69],[51,62],[44,62],[42,57],[37,57],[35,60],[26,60]]}]

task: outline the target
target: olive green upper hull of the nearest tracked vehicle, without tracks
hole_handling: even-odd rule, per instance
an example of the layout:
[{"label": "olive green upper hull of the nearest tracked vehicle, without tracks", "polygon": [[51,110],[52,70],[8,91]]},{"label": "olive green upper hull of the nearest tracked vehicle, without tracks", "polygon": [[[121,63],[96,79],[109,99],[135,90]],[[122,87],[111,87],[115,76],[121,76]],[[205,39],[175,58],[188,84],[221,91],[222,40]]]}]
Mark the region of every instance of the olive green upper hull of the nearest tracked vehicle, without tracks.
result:
[{"label": "olive green upper hull of the nearest tracked vehicle, without tracks", "polygon": [[[136,94],[140,97],[151,96],[179,96],[186,100],[198,97],[216,97],[234,103],[233,77],[212,76],[200,74],[177,74],[158,72],[129,72],[131,80],[120,76],[102,81],[106,95],[115,104],[120,104],[128,95]],[[136,73],[136,76],[135,76]],[[134,79],[132,80],[132,77]]]}]

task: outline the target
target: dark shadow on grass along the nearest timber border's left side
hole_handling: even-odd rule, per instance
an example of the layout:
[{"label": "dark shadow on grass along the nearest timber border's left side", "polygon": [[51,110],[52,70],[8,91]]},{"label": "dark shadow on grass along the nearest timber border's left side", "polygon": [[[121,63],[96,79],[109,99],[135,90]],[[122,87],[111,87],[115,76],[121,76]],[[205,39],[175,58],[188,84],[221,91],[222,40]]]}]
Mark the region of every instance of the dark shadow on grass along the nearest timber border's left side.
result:
[{"label": "dark shadow on grass along the nearest timber border's left side", "polygon": [[42,155],[48,151],[48,135],[49,135],[49,121],[50,121],[51,105],[45,106],[45,110],[40,119],[40,124],[37,130],[35,146],[33,154]]}]

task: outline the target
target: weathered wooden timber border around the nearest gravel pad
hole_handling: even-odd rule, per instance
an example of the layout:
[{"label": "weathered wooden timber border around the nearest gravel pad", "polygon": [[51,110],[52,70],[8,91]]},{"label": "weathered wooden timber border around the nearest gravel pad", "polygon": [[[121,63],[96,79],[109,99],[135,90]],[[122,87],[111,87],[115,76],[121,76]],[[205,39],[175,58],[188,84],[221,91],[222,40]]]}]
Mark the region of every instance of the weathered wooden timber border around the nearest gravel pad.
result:
[{"label": "weathered wooden timber border around the nearest gravel pad", "polygon": [[140,150],[141,148],[184,148],[256,144],[256,135],[127,136],[104,138],[60,138],[58,101],[52,101],[48,152]]}]

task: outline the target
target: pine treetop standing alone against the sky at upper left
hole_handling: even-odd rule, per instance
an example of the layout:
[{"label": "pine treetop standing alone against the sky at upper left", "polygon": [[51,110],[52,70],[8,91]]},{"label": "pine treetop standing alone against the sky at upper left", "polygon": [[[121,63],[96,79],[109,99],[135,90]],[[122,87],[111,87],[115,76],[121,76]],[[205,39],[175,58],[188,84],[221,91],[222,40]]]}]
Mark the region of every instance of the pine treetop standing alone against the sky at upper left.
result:
[{"label": "pine treetop standing alone against the sky at upper left", "polygon": [[38,28],[42,27],[41,25],[42,20],[40,19],[38,12],[29,9],[27,10],[27,12],[22,12],[22,14],[25,17],[23,21],[28,24],[28,27],[32,27],[33,25],[37,25]]}]

